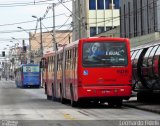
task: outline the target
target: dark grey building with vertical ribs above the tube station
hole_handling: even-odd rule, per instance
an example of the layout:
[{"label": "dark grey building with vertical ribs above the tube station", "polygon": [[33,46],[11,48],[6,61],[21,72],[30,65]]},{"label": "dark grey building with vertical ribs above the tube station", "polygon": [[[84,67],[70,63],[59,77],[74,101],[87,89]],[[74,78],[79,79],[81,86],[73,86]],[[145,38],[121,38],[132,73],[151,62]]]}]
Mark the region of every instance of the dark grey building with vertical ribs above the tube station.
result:
[{"label": "dark grey building with vertical ribs above the tube station", "polygon": [[160,30],[160,0],[120,0],[121,37],[133,38]]}]

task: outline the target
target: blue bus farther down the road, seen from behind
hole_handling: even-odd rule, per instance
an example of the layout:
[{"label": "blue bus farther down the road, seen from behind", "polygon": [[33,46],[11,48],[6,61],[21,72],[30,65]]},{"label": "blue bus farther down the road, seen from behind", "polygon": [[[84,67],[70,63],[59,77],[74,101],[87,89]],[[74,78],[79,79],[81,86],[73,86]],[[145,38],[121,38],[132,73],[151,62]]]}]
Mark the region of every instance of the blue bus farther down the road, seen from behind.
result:
[{"label": "blue bus farther down the road, seen from behind", "polygon": [[15,70],[17,87],[37,87],[41,85],[41,74],[38,64],[21,64]]}]

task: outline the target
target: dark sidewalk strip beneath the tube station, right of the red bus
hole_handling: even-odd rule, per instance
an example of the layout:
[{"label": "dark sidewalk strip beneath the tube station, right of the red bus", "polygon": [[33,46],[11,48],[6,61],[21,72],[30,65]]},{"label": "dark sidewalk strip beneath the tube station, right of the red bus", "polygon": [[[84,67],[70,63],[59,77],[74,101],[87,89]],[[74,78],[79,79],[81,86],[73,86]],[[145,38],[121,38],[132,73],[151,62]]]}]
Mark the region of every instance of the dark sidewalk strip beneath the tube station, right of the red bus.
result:
[{"label": "dark sidewalk strip beneath the tube station, right of the red bus", "polygon": [[129,101],[124,101],[123,105],[160,114],[160,102],[159,103],[137,102],[137,97],[131,97]]}]

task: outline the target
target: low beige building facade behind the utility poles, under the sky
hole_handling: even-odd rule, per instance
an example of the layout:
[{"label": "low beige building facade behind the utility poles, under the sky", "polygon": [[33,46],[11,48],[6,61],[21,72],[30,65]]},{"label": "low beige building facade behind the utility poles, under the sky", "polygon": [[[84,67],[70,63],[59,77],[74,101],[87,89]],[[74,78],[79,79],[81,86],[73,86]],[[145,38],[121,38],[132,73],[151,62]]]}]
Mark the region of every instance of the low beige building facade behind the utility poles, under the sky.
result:
[{"label": "low beige building facade behind the utility poles, under the sky", "polygon": [[[31,34],[30,40],[30,58],[34,63],[39,63],[42,55],[41,51],[43,51],[43,55],[54,50],[53,47],[53,36],[51,32],[43,32],[42,33],[42,48],[41,48],[41,40],[40,33]],[[68,44],[72,42],[72,31],[70,30],[57,30],[55,32],[55,42],[57,43],[57,47]]]}]

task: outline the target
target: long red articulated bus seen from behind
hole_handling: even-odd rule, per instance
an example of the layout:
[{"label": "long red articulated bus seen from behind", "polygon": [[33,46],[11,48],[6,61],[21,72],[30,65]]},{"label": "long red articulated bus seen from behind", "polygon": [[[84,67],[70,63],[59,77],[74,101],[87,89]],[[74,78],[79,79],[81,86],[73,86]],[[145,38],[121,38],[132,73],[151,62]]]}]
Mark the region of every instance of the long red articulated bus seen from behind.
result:
[{"label": "long red articulated bus seen from behind", "polygon": [[43,83],[47,98],[108,102],[121,106],[132,90],[130,42],[125,38],[84,38],[46,55]]}]

